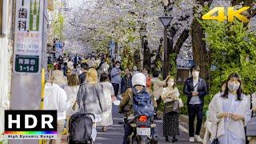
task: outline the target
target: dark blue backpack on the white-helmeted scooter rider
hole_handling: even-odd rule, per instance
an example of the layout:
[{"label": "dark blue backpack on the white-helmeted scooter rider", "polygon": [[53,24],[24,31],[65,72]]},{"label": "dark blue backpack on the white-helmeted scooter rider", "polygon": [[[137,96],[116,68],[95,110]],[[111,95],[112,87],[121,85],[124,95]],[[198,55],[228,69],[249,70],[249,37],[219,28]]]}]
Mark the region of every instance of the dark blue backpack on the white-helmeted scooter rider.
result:
[{"label": "dark blue backpack on the white-helmeted scooter rider", "polygon": [[132,88],[133,97],[133,110],[134,116],[146,115],[152,117],[154,115],[154,103],[151,101],[150,94],[146,92],[146,88],[138,92],[134,87]]}]

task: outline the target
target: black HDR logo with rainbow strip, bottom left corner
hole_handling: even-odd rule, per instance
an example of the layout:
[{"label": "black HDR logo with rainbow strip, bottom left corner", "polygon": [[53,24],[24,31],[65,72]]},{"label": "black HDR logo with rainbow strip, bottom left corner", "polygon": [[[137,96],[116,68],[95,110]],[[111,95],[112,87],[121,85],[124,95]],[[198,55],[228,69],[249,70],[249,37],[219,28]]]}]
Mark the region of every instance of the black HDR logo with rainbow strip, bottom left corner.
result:
[{"label": "black HDR logo with rainbow strip, bottom left corner", "polygon": [[57,110],[5,110],[7,139],[57,138]]}]

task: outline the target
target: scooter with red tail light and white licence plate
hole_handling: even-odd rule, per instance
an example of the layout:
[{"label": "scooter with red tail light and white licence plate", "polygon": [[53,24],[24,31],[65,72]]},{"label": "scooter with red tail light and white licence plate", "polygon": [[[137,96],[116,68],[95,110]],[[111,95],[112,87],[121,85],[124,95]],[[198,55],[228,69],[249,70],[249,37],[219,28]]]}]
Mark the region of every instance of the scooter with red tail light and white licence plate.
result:
[{"label": "scooter with red tail light and white licence plate", "polygon": [[134,118],[134,122],[130,123],[133,133],[129,136],[130,144],[157,144],[158,134],[154,134],[153,118],[146,115],[138,115]]}]

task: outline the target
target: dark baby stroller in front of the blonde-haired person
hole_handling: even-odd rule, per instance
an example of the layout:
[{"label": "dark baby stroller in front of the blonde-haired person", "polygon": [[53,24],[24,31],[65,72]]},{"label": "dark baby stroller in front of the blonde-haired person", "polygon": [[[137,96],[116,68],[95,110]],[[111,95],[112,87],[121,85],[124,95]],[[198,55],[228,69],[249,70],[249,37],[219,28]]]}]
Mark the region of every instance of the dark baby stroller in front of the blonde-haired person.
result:
[{"label": "dark baby stroller in front of the blonde-haired person", "polygon": [[70,117],[69,123],[70,144],[94,143],[97,134],[94,114],[78,112]]}]

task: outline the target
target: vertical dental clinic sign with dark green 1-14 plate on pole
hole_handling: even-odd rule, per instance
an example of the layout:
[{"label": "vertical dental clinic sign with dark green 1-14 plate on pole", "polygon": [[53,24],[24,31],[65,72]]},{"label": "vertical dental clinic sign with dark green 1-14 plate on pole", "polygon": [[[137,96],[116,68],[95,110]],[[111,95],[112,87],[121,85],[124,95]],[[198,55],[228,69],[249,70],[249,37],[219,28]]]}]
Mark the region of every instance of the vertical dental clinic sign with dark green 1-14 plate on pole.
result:
[{"label": "vertical dental clinic sign with dark green 1-14 plate on pole", "polygon": [[43,0],[16,0],[14,73],[41,70],[43,4]]}]

